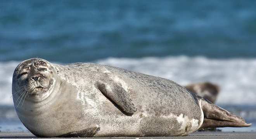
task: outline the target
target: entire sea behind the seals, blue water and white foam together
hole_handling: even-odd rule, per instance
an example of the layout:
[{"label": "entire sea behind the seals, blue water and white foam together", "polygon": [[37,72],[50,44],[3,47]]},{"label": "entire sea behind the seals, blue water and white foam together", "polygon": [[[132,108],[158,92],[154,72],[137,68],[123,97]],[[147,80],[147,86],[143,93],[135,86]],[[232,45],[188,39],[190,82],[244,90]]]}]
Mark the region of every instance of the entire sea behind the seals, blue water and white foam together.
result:
[{"label": "entire sea behind the seals, blue water and white foam together", "polygon": [[94,62],[181,85],[210,81],[217,104],[256,131],[256,1],[0,1],[0,131],[27,131],[12,73],[29,58]]}]

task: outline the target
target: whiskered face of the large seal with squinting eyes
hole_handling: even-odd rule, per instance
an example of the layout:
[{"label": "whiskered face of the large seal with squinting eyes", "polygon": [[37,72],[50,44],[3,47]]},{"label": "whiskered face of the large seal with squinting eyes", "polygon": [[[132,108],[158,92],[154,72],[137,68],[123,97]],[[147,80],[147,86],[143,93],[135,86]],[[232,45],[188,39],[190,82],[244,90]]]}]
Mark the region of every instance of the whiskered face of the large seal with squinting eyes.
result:
[{"label": "whiskered face of the large seal with squinting eyes", "polygon": [[43,95],[53,85],[53,68],[48,61],[39,58],[28,59],[14,71],[16,92],[20,95]]}]

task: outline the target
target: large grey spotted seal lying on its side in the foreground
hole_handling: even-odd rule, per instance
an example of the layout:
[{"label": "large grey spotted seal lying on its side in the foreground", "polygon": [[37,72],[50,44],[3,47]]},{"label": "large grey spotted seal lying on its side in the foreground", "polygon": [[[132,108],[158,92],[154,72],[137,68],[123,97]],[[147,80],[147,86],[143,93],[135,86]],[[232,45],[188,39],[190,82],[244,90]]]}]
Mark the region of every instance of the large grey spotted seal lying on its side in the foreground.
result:
[{"label": "large grey spotted seal lying on its side in the foreground", "polygon": [[12,94],[19,119],[38,137],[186,136],[251,125],[174,81],[93,63],[25,60]]}]

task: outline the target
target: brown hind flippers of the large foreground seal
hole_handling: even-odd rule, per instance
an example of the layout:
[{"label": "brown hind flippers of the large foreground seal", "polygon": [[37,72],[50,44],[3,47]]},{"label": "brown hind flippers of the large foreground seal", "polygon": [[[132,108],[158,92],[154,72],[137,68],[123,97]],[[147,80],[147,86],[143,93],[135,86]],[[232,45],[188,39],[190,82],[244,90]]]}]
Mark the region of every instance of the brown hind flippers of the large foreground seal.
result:
[{"label": "brown hind flippers of the large foreground seal", "polygon": [[204,122],[201,128],[208,127],[249,127],[242,117],[234,115],[223,108],[201,98]]}]

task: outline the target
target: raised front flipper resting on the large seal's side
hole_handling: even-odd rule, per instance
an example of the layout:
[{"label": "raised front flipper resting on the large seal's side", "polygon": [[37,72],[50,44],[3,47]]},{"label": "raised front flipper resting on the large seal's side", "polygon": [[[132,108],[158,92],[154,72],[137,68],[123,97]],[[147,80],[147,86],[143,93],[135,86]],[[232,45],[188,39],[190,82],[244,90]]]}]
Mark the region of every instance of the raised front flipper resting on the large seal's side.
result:
[{"label": "raised front flipper resting on the large seal's side", "polygon": [[110,83],[102,83],[98,81],[95,86],[124,112],[128,114],[134,114],[134,112],[136,112],[136,108],[134,107],[128,92],[114,81],[110,81]]}]

